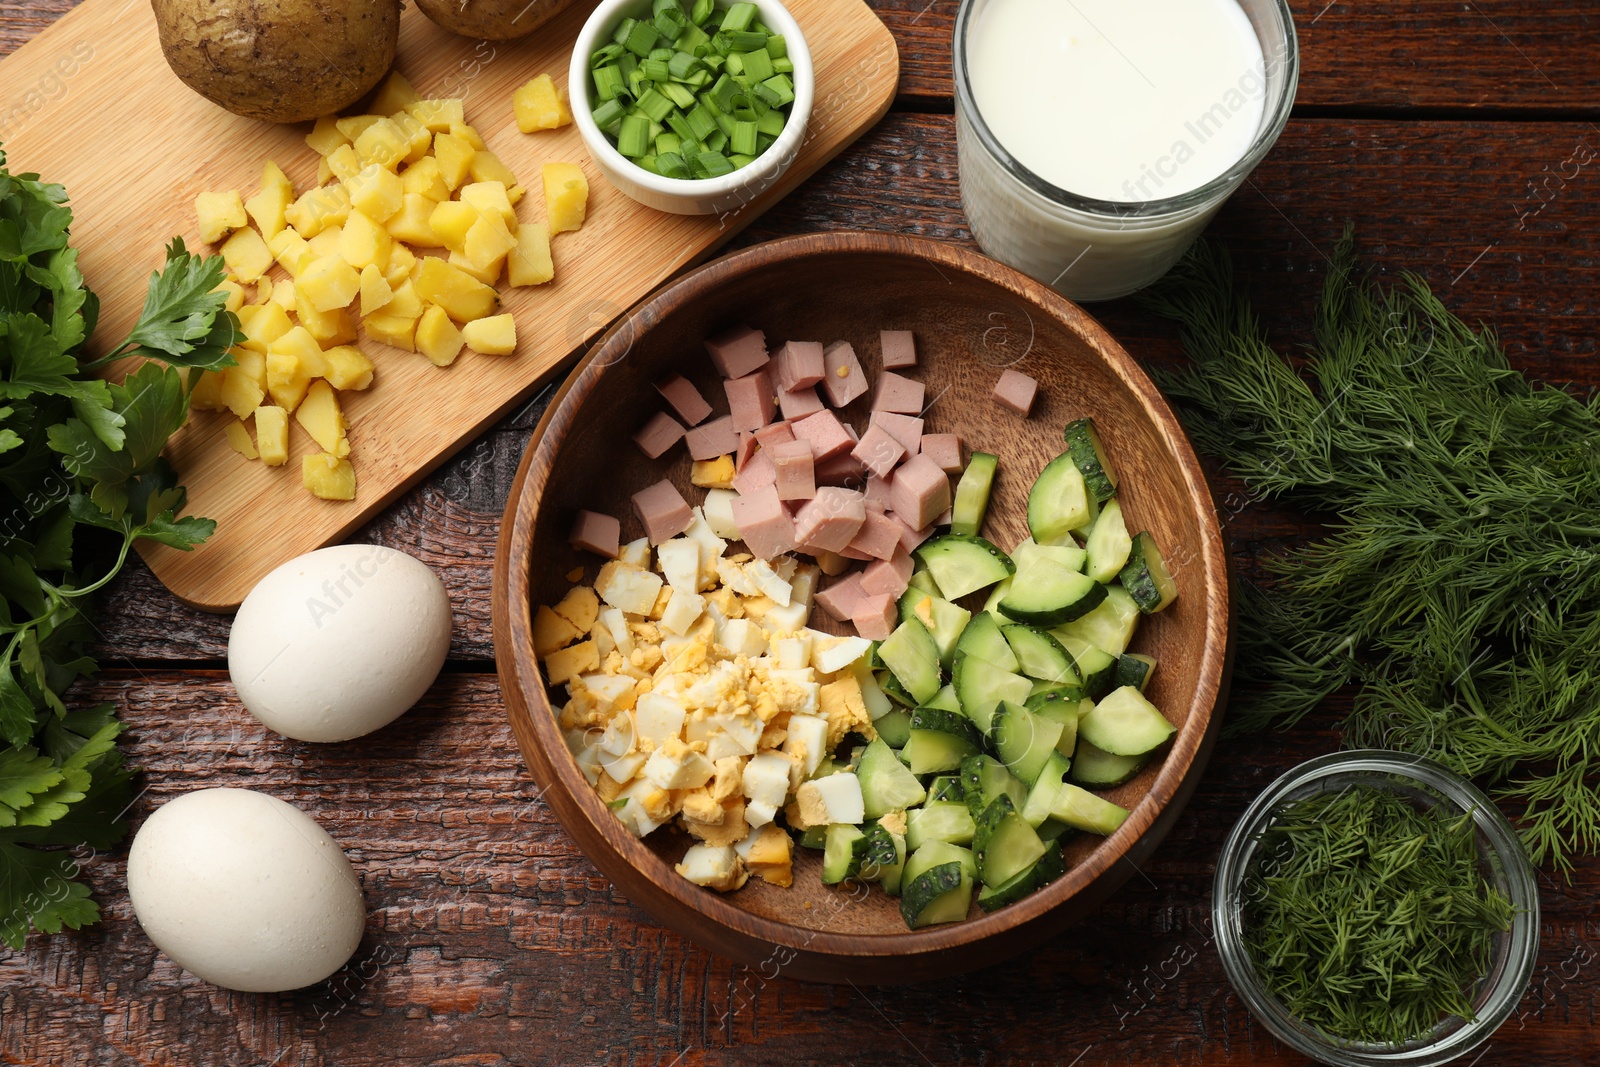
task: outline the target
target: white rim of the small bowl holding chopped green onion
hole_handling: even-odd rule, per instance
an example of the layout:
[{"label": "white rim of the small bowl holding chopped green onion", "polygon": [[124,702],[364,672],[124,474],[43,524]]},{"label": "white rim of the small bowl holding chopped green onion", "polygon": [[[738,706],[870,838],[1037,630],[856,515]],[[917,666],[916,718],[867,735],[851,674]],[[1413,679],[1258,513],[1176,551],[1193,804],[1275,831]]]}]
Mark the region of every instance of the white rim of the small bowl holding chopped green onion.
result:
[{"label": "white rim of the small bowl holding chopped green onion", "polygon": [[773,168],[784,170],[800,150],[816,99],[816,67],[811,62],[811,46],[806,43],[800,22],[781,0],[749,0],[760,10],[763,22],[768,26],[778,24],[773,29],[789,45],[789,58],[795,64],[794,77],[790,78],[795,86],[795,99],[789,106],[789,118],[778,139],[744,166],[718,178],[666,178],[664,174],[651,174],[618,152],[611,139],[600,133],[600,126],[595,125],[589,107],[589,56],[594,54],[600,37],[622,18],[622,13],[640,6],[643,2],[602,0],[589,13],[582,29],[578,30],[578,40],[573,43],[571,61],[566,67],[566,98],[571,101],[573,123],[578,126],[578,133],[582,136],[589,154],[603,168],[626,174],[627,181],[653,194],[682,200],[725,197],[754,182],[771,181]]}]

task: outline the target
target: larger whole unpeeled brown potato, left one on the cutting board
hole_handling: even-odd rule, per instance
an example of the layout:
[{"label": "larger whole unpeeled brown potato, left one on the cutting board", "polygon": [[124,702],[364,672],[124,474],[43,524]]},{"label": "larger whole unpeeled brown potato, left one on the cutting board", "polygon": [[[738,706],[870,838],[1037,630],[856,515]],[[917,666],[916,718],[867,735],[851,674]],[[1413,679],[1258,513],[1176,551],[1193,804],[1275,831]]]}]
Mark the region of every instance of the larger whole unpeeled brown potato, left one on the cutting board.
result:
[{"label": "larger whole unpeeled brown potato, left one on the cutting board", "polygon": [[184,85],[235,115],[301,122],[354,104],[389,72],[400,0],[150,0]]}]

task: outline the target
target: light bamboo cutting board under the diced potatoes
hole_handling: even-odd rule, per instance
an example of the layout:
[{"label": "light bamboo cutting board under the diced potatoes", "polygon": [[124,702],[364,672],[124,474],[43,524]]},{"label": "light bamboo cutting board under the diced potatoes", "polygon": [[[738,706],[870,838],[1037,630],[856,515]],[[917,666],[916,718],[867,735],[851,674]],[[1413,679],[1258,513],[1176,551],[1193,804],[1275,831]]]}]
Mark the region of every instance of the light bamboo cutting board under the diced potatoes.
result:
[{"label": "light bamboo cutting board under the diced potatoes", "polygon": [[[816,66],[816,104],[800,157],[782,179],[733,216],[685,218],[640,206],[613,189],[574,126],[517,130],[510,94],[549,72],[566,83],[571,42],[590,5],[578,3],[522,42],[474,42],[448,34],[414,8],[400,22],[397,69],[422,96],[464,96],[467,122],[530,194],[525,219],[544,218],[539,166],[579,163],[589,178],[589,218],[554,242],[557,280],[502,290],[517,317],[517,354],[462,352],[450,368],[362,341],[378,365],[373,387],[341,395],[350,419],[355,501],[318,501],[301,486],[299,456],[315,451],[290,419],[290,462],[266,467],[227,446],[226,413],[195,413],[168,458],[189,488],[189,512],[218,522],[194,552],[141,545],[179,600],[208,611],[238,606],[278,563],[339,541],[498,421],[661,280],[694,262],[800,184],[872,126],[894,98],[894,38],[861,0],[789,0]],[[309,123],[274,126],[230,115],[184,86],[162,58],[149,0],[86,0],[0,62],[0,139],[14,173],[37,171],[72,197],[72,243],[101,298],[102,350],[126,336],[144,306],[163,246],[198,242],[195,195],[251,195],[264,160],[296,192],[315,184]],[[274,269],[274,277],[283,277]],[[635,427],[618,427],[632,434]]]}]

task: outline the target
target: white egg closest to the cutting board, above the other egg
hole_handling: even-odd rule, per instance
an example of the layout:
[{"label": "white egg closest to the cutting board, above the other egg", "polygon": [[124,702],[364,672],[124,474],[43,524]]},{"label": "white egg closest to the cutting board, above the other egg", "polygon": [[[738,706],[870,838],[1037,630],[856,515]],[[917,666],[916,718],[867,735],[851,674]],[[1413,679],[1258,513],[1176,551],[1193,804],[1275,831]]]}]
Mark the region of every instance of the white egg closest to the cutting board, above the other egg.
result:
[{"label": "white egg closest to the cutting board, above the other egg", "polygon": [[349,741],[398,718],[450,651],[450,597],[424,563],[371,544],[293,558],[238,606],[227,672],[269,729]]}]

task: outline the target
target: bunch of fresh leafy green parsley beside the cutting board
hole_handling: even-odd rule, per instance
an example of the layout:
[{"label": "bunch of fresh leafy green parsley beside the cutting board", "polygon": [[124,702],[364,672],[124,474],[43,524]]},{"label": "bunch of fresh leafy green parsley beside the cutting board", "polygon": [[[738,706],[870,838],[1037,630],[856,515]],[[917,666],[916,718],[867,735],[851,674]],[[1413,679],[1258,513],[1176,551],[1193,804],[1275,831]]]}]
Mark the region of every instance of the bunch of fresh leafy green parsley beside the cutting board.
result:
[{"label": "bunch of fresh leafy green parsley beside the cutting board", "polygon": [[[0,941],[99,918],[64,848],[110,848],[133,771],[109,704],[69,707],[94,672],[90,595],[139,539],[190,549],[216,528],[179,517],[184,490],[162,459],[202,370],[230,365],[238,320],[219,259],[173,240],[128,339],[83,346],[99,302],[67,243],[61,186],[11,174],[0,152]],[[120,386],[93,376],[146,357]],[[179,368],[189,368],[179,370]]]}]

